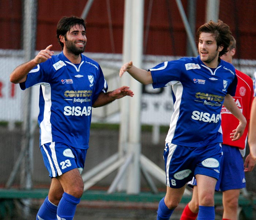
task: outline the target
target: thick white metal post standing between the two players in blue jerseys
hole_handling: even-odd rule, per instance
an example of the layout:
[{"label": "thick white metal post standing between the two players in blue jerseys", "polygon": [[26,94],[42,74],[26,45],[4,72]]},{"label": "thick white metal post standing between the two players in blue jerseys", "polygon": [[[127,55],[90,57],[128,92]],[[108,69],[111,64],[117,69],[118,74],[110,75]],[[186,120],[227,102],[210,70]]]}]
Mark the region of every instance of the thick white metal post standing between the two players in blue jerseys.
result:
[{"label": "thick white metal post standing between the two players in blue jerseys", "polygon": [[[144,1],[132,0],[132,29],[131,29],[131,58],[133,64],[137,67],[142,67],[142,52],[143,52],[143,17],[144,17]],[[132,163],[129,166],[128,172],[128,194],[138,194],[140,192],[140,108],[141,108],[141,93],[142,85],[131,78],[131,88],[134,92],[134,97],[131,100],[129,111],[129,152],[133,154]]]}]

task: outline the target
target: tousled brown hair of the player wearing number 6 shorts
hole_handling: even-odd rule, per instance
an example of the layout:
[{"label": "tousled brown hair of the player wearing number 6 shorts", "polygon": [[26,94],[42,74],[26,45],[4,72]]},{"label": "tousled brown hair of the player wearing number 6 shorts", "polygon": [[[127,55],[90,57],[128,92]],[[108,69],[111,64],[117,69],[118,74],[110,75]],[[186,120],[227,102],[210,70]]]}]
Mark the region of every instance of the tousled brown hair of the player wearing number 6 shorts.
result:
[{"label": "tousled brown hair of the player wearing number 6 shorts", "polygon": [[218,22],[210,20],[209,22],[200,26],[196,32],[197,41],[199,41],[199,36],[202,32],[212,33],[215,35],[217,46],[223,46],[223,50],[219,52],[219,57],[221,57],[229,50],[230,41],[232,39],[232,32],[230,31],[229,26],[223,23],[222,20],[218,20]]}]

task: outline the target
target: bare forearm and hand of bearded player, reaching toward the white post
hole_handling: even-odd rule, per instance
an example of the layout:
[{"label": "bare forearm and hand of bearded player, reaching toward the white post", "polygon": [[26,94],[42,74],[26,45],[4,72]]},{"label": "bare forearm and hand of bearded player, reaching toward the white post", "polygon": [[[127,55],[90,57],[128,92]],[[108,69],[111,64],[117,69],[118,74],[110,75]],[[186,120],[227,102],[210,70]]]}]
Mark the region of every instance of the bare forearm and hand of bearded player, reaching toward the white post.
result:
[{"label": "bare forearm and hand of bearded player, reaching toward the white post", "polygon": [[121,99],[124,96],[133,96],[133,92],[131,90],[129,90],[128,86],[122,86],[120,88],[117,88],[114,91],[111,92],[101,92],[98,96],[98,98],[96,99],[96,101],[93,103],[93,107],[97,108],[97,107],[101,107],[103,105],[107,105],[110,102],[113,102],[116,99]]}]

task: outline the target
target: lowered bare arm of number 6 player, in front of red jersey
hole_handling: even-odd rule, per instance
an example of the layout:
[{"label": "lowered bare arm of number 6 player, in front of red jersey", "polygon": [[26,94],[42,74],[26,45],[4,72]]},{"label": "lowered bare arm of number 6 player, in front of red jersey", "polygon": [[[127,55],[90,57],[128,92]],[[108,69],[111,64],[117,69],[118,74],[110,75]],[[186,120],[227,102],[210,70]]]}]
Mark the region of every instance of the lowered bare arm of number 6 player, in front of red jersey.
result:
[{"label": "lowered bare arm of number 6 player, in front of red jersey", "polygon": [[236,141],[240,139],[242,134],[244,133],[244,129],[246,127],[246,118],[240,111],[240,109],[237,107],[233,97],[229,94],[225,96],[224,104],[223,104],[238,120],[239,124],[236,129],[233,130],[233,133],[230,134],[230,138],[232,141]]}]

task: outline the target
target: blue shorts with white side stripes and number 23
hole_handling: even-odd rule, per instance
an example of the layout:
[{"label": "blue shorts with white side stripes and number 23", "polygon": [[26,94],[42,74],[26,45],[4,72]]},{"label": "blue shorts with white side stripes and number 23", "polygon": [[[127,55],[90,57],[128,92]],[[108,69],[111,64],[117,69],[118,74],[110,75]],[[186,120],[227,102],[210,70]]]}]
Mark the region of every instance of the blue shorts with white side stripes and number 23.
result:
[{"label": "blue shorts with white side stripes and number 23", "polygon": [[50,178],[58,177],[75,168],[82,173],[87,149],[73,148],[61,142],[43,144],[40,149]]}]

